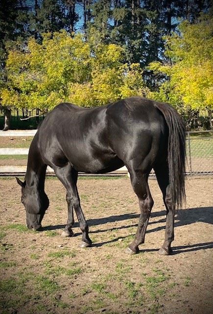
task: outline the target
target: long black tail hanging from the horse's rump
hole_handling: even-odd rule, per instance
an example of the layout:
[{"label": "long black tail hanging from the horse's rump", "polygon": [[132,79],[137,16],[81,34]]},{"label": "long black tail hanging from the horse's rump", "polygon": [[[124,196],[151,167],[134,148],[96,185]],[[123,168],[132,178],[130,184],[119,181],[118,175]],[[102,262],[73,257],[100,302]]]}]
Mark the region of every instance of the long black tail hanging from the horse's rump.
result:
[{"label": "long black tail hanging from the horse's rump", "polygon": [[172,193],[172,202],[182,207],[186,202],[185,193],[185,159],[186,159],[186,132],[185,124],[179,113],[170,105],[155,103],[163,113],[168,127],[168,171],[169,184]]}]

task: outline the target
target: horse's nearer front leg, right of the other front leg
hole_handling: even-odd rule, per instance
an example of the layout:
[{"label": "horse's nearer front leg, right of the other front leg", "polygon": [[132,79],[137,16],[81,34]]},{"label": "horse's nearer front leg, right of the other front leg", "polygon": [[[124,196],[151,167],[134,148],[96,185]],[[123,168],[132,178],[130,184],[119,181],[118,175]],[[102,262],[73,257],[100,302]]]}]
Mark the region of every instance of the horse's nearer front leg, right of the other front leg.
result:
[{"label": "horse's nearer front leg, right of the other front leg", "polygon": [[54,167],[54,171],[58,179],[66,187],[68,198],[71,200],[71,205],[76,212],[80,229],[82,231],[81,247],[91,246],[92,241],[88,235],[89,228],[80,206],[80,199],[76,186],[78,173],[71,168],[69,163],[64,167]]}]

